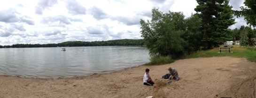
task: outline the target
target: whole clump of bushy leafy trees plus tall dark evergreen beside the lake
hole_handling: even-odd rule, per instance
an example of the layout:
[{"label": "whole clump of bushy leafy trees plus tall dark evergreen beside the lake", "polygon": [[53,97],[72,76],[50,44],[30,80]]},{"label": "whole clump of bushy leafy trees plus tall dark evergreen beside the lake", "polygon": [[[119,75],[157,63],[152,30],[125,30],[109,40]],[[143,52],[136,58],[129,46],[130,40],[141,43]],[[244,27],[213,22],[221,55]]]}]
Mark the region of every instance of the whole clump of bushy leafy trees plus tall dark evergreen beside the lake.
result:
[{"label": "whole clump of bushy leafy trees plus tall dark evergreen beside the lake", "polygon": [[197,14],[185,18],[180,12],[152,9],[152,19],[140,20],[141,37],[151,56],[181,58],[197,50],[210,49],[232,40],[234,24],[229,0],[197,0]]}]

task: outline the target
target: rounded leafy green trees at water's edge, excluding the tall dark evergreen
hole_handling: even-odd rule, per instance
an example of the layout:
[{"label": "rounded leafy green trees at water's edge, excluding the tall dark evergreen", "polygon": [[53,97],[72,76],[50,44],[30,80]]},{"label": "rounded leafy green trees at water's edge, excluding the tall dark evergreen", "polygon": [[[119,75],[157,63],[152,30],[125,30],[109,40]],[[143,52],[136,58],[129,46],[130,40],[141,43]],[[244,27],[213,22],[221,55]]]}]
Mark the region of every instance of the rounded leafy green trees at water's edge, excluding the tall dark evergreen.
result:
[{"label": "rounded leafy green trees at water's edge, excluding the tall dark evergreen", "polygon": [[201,23],[198,15],[185,19],[181,12],[163,13],[153,8],[150,21],[140,20],[140,32],[151,56],[178,59],[200,49]]}]

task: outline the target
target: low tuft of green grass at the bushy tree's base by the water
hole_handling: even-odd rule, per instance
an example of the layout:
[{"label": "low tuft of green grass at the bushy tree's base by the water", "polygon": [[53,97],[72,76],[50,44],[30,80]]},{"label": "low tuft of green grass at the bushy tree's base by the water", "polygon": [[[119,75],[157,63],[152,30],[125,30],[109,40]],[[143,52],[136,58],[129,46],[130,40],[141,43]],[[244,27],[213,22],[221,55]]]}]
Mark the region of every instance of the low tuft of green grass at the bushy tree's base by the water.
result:
[{"label": "low tuft of green grass at the bushy tree's base by the water", "polygon": [[171,59],[171,56],[151,56],[150,62],[148,65],[161,65],[172,63],[174,60]]}]

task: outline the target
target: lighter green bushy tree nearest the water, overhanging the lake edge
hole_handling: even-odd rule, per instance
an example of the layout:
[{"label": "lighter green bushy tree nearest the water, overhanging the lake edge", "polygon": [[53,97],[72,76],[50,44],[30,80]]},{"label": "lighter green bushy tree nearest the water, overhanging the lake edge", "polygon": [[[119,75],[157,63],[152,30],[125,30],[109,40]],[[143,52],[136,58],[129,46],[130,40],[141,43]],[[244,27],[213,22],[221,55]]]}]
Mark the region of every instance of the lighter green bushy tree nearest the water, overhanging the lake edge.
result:
[{"label": "lighter green bushy tree nearest the water, overhanging the lake edge", "polygon": [[164,14],[157,8],[152,9],[152,19],[149,22],[140,20],[141,37],[144,38],[150,55],[171,56],[173,59],[182,56],[185,40],[185,16],[181,12]]}]

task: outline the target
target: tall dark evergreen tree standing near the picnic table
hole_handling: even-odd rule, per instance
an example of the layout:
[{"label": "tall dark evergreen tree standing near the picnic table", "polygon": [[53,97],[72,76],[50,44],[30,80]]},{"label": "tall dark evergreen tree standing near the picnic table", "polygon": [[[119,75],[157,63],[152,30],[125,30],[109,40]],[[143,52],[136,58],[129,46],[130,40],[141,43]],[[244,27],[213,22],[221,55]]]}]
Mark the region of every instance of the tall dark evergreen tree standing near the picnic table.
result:
[{"label": "tall dark evergreen tree standing near the picnic table", "polygon": [[227,30],[234,24],[232,7],[229,0],[196,0],[199,4],[194,9],[202,19],[203,47],[210,49],[225,42],[230,32]]}]

